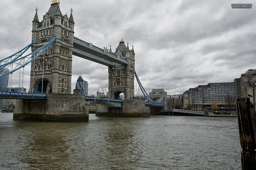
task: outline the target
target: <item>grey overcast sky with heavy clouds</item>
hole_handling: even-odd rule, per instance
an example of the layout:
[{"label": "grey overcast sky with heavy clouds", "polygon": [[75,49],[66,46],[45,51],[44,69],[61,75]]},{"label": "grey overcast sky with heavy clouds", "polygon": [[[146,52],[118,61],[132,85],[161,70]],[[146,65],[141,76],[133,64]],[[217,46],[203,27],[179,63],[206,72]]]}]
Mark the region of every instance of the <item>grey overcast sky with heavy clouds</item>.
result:
[{"label": "grey overcast sky with heavy clouds", "polygon": [[[115,51],[121,37],[134,45],[135,70],[147,92],[163,88],[180,94],[198,84],[233,82],[256,57],[255,1],[223,0],[60,0],[63,15],[73,9],[74,36]],[[50,8],[51,0],[1,1],[0,59],[31,42],[32,20]],[[231,4],[249,3],[251,9]],[[254,6],[255,5],[255,6]],[[24,87],[29,90],[30,66]],[[73,56],[72,90],[78,76],[88,81],[89,95],[108,84],[108,67]],[[13,75],[12,87],[18,87]],[[138,85],[134,82],[135,95]],[[107,87],[108,91],[108,87]]]}]

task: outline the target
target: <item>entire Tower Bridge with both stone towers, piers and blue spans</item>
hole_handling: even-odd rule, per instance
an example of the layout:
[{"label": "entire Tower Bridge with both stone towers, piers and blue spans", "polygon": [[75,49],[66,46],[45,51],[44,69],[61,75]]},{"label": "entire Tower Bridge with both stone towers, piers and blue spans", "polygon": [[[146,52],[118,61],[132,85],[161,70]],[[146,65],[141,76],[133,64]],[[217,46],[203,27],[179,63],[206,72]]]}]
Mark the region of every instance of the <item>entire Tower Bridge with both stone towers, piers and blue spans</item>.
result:
[{"label": "entire Tower Bridge with both stone towers, piers and blue spans", "polygon": [[[16,102],[14,119],[26,120],[32,117],[43,121],[88,121],[84,96],[70,94],[72,55],[108,66],[108,101],[86,99],[86,102],[98,102],[102,105],[98,109],[98,115],[148,117],[150,113],[148,107],[164,109],[166,104],[159,104],[159,101],[166,100],[164,96],[167,93],[157,97],[160,99],[156,102],[146,94],[138,80],[133,46],[130,49],[122,38],[116,51],[112,52],[111,46],[109,50],[107,47],[101,49],[74,37],[75,22],[72,12],[71,9],[69,17],[67,14],[62,15],[60,3],[54,0],[43,20],[39,21],[36,8],[32,21],[32,43],[26,47],[26,50],[31,47],[32,53],[29,54],[31,57],[27,57],[29,55],[22,57],[24,51],[20,51],[7,57],[7,60],[0,61],[1,64],[4,63],[0,65],[0,69],[17,64],[16,69],[11,72],[31,63],[29,90],[31,94],[27,94],[26,99]],[[146,104],[148,107],[145,106],[145,101],[131,100],[134,96],[134,75],[144,91],[146,102],[149,102]],[[124,94],[124,101],[117,101],[121,93]],[[35,101],[33,94],[47,95],[41,96],[40,101]],[[4,98],[4,96],[0,97]]]}]

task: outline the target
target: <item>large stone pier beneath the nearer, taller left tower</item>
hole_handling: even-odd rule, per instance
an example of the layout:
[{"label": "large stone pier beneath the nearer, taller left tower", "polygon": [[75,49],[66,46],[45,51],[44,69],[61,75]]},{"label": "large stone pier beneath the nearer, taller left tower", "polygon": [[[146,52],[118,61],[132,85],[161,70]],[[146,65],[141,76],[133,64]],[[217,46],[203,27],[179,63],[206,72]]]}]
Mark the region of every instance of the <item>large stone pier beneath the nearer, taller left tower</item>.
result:
[{"label": "large stone pier beneath the nearer, taller left tower", "polygon": [[89,111],[84,95],[48,94],[46,100],[17,100],[13,120],[81,122],[89,121]]}]

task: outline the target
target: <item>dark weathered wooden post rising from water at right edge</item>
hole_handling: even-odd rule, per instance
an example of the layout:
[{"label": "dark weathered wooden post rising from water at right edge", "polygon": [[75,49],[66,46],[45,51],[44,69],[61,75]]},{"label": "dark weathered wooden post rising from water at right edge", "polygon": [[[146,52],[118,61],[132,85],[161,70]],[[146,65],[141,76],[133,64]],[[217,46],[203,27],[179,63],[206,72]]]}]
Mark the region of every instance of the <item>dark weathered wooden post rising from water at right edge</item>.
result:
[{"label": "dark weathered wooden post rising from water at right edge", "polygon": [[238,98],[236,102],[242,170],[256,168],[256,111],[250,98]]}]

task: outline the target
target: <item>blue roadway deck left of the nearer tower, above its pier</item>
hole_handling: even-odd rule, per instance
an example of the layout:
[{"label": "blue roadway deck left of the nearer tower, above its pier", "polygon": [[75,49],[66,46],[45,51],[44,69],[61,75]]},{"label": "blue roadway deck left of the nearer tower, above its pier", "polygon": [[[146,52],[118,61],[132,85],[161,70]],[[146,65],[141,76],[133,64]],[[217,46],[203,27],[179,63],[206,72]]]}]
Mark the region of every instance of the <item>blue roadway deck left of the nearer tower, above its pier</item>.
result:
[{"label": "blue roadway deck left of the nearer tower, above its pier", "polygon": [[22,92],[0,92],[2,99],[46,99],[46,94],[22,93]]}]

